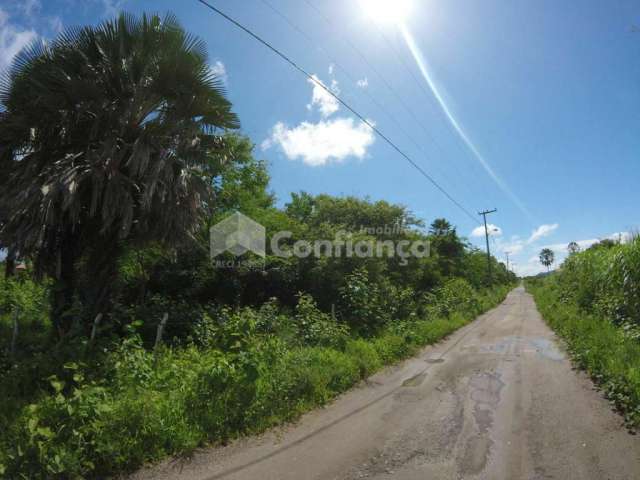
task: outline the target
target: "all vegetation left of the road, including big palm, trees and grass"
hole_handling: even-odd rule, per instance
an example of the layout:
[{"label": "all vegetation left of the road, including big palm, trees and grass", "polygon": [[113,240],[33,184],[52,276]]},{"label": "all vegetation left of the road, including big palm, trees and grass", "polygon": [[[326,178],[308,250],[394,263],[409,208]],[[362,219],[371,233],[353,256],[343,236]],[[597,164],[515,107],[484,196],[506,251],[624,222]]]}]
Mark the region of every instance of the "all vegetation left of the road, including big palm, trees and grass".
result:
[{"label": "all vegetation left of the road, including big palm, trees and grass", "polygon": [[[204,47],[172,16],[123,15],[33,46],[2,85],[2,478],[103,478],[294,420],[515,282],[491,258],[487,284],[453,225],[401,205],[276,206]],[[236,211],[291,232],[288,249],[340,236],[431,253],[267,248],[216,266],[209,228]]]}]

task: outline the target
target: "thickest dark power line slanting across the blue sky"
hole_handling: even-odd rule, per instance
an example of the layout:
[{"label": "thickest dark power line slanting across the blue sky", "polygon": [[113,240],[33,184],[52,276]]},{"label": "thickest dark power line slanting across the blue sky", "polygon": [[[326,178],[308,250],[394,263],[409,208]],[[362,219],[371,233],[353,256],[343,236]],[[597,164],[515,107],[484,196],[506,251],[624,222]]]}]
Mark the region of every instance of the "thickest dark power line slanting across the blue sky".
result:
[{"label": "thickest dark power line slanting across the blue sky", "polygon": [[223,17],[225,20],[231,22],[233,25],[238,27],[240,30],[242,30],[243,32],[245,32],[249,36],[253,37],[255,40],[257,40],[262,45],[264,45],[269,50],[271,50],[273,53],[275,53],[280,58],[282,58],[285,62],[287,62],[293,68],[295,68],[300,73],[302,73],[305,77],[307,77],[315,85],[318,85],[325,92],[327,92],[329,95],[331,95],[333,98],[335,98],[342,106],[344,106],[353,115],[355,115],[358,119],[360,119],[373,132],[375,132],[380,138],[382,138],[387,144],[389,144],[398,154],[400,154],[400,156],[402,156],[406,161],[408,161],[423,177],[425,177],[434,187],[436,187],[443,195],[445,195],[454,205],[456,205],[462,212],[464,212],[465,215],[467,215],[474,223],[479,223],[478,220],[475,218],[475,216],[473,214],[471,214],[471,212],[469,212],[469,210],[467,210],[465,207],[463,207],[462,204],[460,204],[455,198],[453,198],[449,194],[449,192],[447,192],[443,187],[441,187],[440,184],[436,180],[434,180],[434,178],[431,177],[431,175],[429,175],[420,165],[418,165],[416,162],[414,162],[411,159],[411,157],[409,157],[406,153],[404,153],[404,151],[402,151],[395,143],[393,143],[389,139],[389,137],[387,137],[384,133],[382,133],[380,131],[380,129],[378,129],[375,125],[373,125],[371,122],[369,122],[363,115],[358,113],[353,107],[351,107],[351,105],[349,105],[347,102],[345,102],[342,98],[340,98],[338,95],[336,95],[334,92],[332,92],[331,89],[327,88],[322,82],[316,80],[316,78],[314,78],[313,75],[308,73],[304,68],[299,66],[296,62],[294,62],[291,58],[289,58],[287,55],[285,55],[282,51],[280,51],[279,49],[277,49],[276,47],[271,45],[269,42],[264,40],[262,37],[260,37],[259,35],[257,35],[253,31],[251,31],[249,28],[245,27],[244,25],[242,25],[241,23],[239,23],[238,21],[236,21],[235,19],[233,19],[232,17],[230,17],[229,15],[224,13],[223,11],[221,11],[218,8],[214,7],[213,5],[211,5],[206,0],[196,0],[196,1],[201,3],[202,5],[204,5],[205,7],[209,8],[210,10],[214,11],[215,13],[217,13],[218,15]]}]

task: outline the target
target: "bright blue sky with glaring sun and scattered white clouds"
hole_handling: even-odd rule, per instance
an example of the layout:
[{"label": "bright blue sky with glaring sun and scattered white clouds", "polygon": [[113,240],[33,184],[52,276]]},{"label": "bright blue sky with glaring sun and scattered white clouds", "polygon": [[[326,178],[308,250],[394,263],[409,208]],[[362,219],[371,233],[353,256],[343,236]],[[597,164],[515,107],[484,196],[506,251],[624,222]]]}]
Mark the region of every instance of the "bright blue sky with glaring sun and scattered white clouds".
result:
[{"label": "bright blue sky with glaring sun and scattered white clouds", "polygon": [[196,0],[0,0],[0,69],[64,28],[171,11],[206,41],[280,205],[300,190],[384,199],[480,248],[477,212],[496,208],[492,253],[521,275],[545,270],[544,247],[559,263],[571,241],[636,231],[640,2],[369,1],[407,16],[384,21],[366,0],[210,0],[316,82]]}]

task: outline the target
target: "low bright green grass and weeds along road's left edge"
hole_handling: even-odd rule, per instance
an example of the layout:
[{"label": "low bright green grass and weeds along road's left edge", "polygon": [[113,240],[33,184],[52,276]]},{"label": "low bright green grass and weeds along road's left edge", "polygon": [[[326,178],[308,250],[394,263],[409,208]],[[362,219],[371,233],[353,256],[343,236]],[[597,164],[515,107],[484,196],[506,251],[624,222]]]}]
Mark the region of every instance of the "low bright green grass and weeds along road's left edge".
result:
[{"label": "low bright green grass and weeds along road's left edge", "polygon": [[188,346],[154,354],[133,336],[97,359],[68,363],[47,392],[3,418],[0,476],[102,478],[293,421],[469,323],[508,290],[342,347],[291,348],[265,336],[236,353]]}]

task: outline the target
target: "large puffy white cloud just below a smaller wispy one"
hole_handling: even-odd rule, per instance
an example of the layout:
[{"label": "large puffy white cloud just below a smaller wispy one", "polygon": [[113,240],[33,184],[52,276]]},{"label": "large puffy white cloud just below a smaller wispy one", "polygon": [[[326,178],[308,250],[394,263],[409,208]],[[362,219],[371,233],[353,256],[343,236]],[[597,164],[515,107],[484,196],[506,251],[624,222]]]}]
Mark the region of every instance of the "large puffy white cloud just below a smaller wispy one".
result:
[{"label": "large puffy white cloud just below a smaller wispy one", "polygon": [[340,163],[350,156],[364,158],[374,140],[371,128],[364,122],[354,124],[352,118],[302,122],[293,128],[278,122],[262,148],[279,145],[288,159],[320,166]]}]

